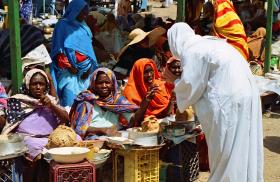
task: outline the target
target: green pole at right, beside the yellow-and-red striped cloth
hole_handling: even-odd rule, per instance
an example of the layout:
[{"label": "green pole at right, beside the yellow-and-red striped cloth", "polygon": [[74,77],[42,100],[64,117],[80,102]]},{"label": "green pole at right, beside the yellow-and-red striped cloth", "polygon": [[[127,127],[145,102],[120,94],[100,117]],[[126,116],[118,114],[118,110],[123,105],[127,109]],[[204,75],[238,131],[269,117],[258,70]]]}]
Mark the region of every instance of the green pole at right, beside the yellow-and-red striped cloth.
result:
[{"label": "green pole at right, beside the yellow-and-red striped cloth", "polygon": [[266,22],[266,42],[265,42],[265,62],[264,72],[267,73],[270,70],[270,58],[271,58],[271,42],[272,42],[272,16],[273,16],[273,0],[267,0],[267,22]]}]

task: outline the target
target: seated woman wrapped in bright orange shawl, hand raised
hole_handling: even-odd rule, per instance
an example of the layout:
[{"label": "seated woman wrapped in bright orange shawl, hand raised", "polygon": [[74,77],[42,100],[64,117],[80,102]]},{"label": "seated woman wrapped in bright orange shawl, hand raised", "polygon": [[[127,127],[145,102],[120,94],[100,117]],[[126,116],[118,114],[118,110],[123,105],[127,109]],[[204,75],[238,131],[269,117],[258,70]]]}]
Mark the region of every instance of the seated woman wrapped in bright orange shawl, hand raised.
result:
[{"label": "seated woman wrapped in bright orange shawl, hand raised", "polygon": [[172,108],[171,94],[167,91],[165,82],[160,80],[156,65],[151,59],[143,58],[135,62],[124,96],[138,106],[148,104],[145,113],[147,116],[164,118]]}]

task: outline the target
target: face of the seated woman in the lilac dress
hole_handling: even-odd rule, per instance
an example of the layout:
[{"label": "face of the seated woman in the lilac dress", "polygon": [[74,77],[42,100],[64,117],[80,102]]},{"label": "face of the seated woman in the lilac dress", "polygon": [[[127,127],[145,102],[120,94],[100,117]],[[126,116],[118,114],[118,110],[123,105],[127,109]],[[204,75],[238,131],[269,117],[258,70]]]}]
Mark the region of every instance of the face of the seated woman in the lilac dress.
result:
[{"label": "face of the seated woman in the lilac dress", "polygon": [[32,97],[40,99],[45,95],[46,88],[47,80],[42,74],[36,73],[32,76],[29,84],[29,91]]}]

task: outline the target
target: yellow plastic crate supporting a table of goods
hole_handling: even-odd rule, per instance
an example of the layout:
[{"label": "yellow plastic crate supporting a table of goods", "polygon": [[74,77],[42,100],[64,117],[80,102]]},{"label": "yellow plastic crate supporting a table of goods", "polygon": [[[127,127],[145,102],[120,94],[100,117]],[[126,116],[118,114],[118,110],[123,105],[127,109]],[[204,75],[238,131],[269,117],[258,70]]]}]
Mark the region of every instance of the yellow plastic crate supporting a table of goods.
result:
[{"label": "yellow plastic crate supporting a table of goods", "polygon": [[159,148],[115,151],[114,182],[117,182],[117,159],[124,157],[124,182],[158,182]]}]

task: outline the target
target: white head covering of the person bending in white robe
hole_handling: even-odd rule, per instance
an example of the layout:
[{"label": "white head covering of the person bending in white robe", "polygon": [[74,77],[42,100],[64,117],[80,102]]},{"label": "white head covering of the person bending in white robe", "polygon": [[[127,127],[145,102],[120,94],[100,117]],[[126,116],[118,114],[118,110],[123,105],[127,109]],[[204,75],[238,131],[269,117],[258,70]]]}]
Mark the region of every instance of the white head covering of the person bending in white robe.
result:
[{"label": "white head covering of the person bending in white robe", "polygon": [[183,50],[202,39],[186,23],[175,23],[167,32],[170,50],[175,57],[181,59]]}]

